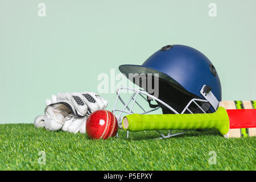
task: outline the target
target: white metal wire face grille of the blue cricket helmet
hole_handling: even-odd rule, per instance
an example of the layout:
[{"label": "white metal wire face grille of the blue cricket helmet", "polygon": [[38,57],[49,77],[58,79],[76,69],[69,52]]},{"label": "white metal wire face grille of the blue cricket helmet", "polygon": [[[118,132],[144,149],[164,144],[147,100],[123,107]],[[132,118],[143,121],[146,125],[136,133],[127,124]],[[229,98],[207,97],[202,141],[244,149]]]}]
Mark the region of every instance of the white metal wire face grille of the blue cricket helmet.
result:
[{"label": "white metal wire face grille of the blue cricket helmet", "polygon": [[[141,89],[134,89],[134,88],[118,88],[117,89],[117,98],[115,99],[115,104],[114,104],[114,109],[113,113],[115,117],[117,118],[118,121],[118,126],[119,128],[124,128],[127,129],[129,123],[127,122],[126,115],[129,114],[160,114],[159,110],[161,107],[160,105],[166,107],[166,110],[169,110],[169,113],[175,113],[175,114],[184,114],[184,113],[207,113],[205,110],[209,108],[209,102],[207,100],[201,100],[199,98],[193,98],[191,101],[187,103],[187,105],[184,107],[183,111],[178,113],[173,107],[167,105],[164,101],[159,100],[159,98],[154,97],[150,94],[148,94],[146,91],[141,90]],[[122,96],[121,96],[121,93]],[[127,95],[129,93],[129,95]],[[125,97],[128,96],[128,97]],[[141,98],[142,100],[138,100]],[[146,105],[143,105],[143,101],[146,102]],[[157,107],[151,107],[150,109],[148,108],[148,101],[152,101],[159,103],[159,106]],[[202,106],[203,105],[203,108]],[[137,106],[137,108],[136,108]],[[139,110],[138,110],[139,108]],[[163,107],[162,107],[163,108]],[[123,122],[122,122],[123,121]],[[123,124],[123,125],[122,125]],[[180,135],[183,133],[188,132],[187,131],[181,131],[180,133],[175,133],[172,134],[172,131],[170,130],[168,135],[165,135],[161,133],[160,131],[156,130],[161,137],[158,139],[162,138],[169,138],[169,137],[174,137],[176,135]],[[129,131],[127,131],[127,138],[129,137]]]}]

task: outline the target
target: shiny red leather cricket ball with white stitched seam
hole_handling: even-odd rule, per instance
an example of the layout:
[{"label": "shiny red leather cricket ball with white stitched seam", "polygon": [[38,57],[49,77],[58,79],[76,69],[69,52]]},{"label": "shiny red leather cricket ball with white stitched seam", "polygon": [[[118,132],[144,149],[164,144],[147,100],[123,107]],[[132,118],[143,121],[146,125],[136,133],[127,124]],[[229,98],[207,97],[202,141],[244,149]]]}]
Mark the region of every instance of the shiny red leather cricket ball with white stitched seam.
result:
[{"label": "shiny red leather cricket ball with white stitched seam", "polygon": [[86,119],[86,133],[91,139],[115,137],[117,131],[117,118],[108,110],[94,111]]}]

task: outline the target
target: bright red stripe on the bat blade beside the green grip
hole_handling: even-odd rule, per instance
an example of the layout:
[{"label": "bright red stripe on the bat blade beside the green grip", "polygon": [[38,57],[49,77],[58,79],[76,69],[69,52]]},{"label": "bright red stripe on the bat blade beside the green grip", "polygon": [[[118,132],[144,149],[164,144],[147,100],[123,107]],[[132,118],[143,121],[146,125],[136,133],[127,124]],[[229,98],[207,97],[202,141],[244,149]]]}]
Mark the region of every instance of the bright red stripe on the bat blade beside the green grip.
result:
[{"label": "bright red stripe on the bat blade beside the green grip", "polygon": [[256,127],[256,109],[227,109],[229,128],[242,129]]}]

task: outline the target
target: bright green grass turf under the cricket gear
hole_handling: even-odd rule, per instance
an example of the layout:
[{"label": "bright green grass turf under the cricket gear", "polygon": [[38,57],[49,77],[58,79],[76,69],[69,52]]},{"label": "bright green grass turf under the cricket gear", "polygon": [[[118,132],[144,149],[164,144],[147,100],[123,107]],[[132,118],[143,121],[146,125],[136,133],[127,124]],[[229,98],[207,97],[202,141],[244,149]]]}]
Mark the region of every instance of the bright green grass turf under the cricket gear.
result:
[{"label": "bright green grass turf under the cricket gear", "polygon": [[[215,130],[158,139],[155,131],[91,140],[84,134],[0,125],[0,170],[255,170],[256,138],[225,139]],[[39,151],[46,164],[38,164]],[[209,164],[209,152],[217,154]]]}]

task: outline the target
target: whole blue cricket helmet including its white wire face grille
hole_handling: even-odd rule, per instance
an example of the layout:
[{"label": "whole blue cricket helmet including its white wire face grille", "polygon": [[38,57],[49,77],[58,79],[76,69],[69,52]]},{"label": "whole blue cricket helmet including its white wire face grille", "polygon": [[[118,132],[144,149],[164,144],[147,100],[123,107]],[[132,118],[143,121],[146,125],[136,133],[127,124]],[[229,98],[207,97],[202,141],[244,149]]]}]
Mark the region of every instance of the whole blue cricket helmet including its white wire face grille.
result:
[{"label": "whole blue cricket helmet including its white wire face grille", "polygon": [[[221,101],[221,83],[215,67],[203,53],[192,47],[164,46],[142,65],[120,65],[119,71],[142,88],[117,89],[113,113],[119,127],[122,114],[148,114],[158,109],[162,109],[163,114],[213,113]],[[143,84],[145,81],[146,85]],[[150,82],[154,89],[150,89]],[[129,100],[121,97],[122,90],[132,91]],[[150,109],[145,109],[138,101],[140,96],[148,102]],[[118,109],[118,100],[122,109]],[[135,105],[141,108],[141,112],[134,111]]]}]

